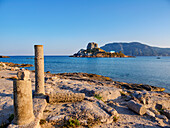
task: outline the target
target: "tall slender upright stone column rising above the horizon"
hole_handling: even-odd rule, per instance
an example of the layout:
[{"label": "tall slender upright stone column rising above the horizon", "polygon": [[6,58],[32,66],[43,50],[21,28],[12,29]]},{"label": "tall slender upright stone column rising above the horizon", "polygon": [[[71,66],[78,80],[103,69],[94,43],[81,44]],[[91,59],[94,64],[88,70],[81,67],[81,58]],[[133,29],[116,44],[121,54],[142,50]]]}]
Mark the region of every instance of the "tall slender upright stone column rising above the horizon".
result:
[{"label": "tall slender upright stone column rising above the horizon", "polygon": [[43,45],[34,45],[34,49],[35,49],[35,94],[45,94]]}]

